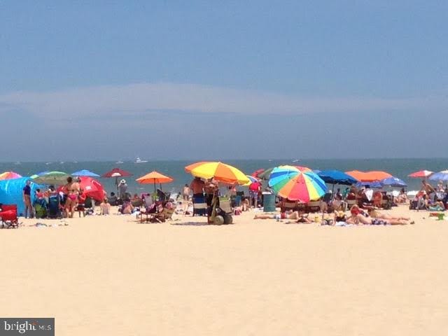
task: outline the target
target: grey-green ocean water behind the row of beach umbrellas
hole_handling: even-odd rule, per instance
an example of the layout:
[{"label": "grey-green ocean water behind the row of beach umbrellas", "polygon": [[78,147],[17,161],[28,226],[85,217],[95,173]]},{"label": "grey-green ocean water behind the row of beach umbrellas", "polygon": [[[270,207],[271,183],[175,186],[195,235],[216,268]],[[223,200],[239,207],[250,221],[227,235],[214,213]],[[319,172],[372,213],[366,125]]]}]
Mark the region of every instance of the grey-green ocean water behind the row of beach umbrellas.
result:
[{"label": "grey-green ocean water behind the row of beach umbrellas", "polygon": [[[393,176],[404,180],[408,184],[407,190],[416,190],[420,188],[420,179],[409,179],[408,174],[421,169],[428,169],[433,172],[440,172],[448,169],[448,158],[440,159],[328,159],[328,160],[227,160],[224,161],[230,165],[238,167],[246,174],[251,174],[256,169],[275,167],[277,165],[301,165],[311,169],[338,169],[343,172],[349,170],[383,170]],[[162,185],[165,191],[180,191],[185,183],[190,183],[192,176],[185,172],[184,167],[190,165],[192,161],[151,161],[146,163],[124,162],[116,164],[115,162],[0,162],[0,172],[13,171],[22,176],[31,176],[43,171],[59,171],[73,173],[80,169],[89,169],[99,175],[108,172],[114,167],[124,169],[133,175],[125,178],[130,193],[151,192],[153,185],[141,185],[135,181],[139,177],[157,170],[158,172],[171,176],[174,182]],[[116,188],[115,179],[99,178],[104,188],[110,193]],[[243,187],[241,187],[243,188]]]}]

